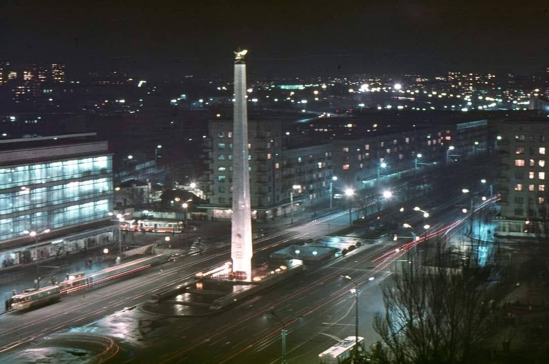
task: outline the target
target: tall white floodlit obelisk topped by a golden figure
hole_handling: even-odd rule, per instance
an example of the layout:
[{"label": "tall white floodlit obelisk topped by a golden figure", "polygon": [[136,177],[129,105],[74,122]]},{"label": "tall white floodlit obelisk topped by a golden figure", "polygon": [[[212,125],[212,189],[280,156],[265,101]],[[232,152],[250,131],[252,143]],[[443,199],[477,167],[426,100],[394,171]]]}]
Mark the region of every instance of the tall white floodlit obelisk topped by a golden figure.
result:
[{"label": "tall white floodlit obelisk topped by a golden figure", "polygon": [[[248,51],[234,52],[233,110],[233,217],[231,258],[233,273],[251,281],[250,173],[248,171],[248,110],[246,101],[246,63]],[[245,277],[244,277],[245,276]]]}]

